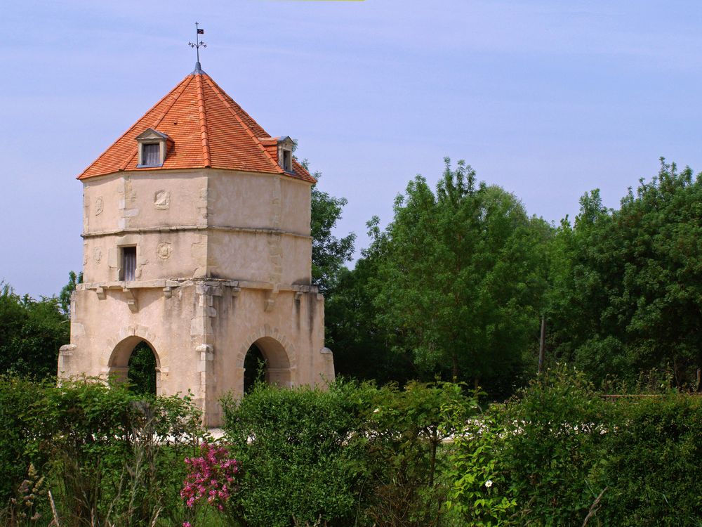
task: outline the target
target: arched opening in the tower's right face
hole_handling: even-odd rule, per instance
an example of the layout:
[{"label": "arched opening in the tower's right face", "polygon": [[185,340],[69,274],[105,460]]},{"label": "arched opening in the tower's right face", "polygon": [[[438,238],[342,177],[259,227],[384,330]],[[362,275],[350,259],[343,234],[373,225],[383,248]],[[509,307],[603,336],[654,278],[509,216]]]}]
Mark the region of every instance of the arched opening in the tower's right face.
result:
[{"label": "arched opening in the tower's right face", "polygon": [[288,354],[282,344],[271,337],[253,342],[244,358],[244,393],[249,393],[257,380],[277,386],[291,386]]}]

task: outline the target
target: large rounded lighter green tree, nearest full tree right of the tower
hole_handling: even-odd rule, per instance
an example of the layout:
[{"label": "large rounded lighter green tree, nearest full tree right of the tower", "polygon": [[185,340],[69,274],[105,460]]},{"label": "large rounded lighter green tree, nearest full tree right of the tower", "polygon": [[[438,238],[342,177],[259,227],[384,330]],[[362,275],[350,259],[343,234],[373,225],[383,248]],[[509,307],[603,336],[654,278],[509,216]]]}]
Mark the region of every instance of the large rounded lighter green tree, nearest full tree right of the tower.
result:
[{"label": "large rounded lighter green tree, nearest full tree right of the tower", "polygon": [[510,377],[538,334],[548,224],[446,159],[435,193],[417,176],[386,230],[371,231],[377,323],[395,349],[454,378]]}]

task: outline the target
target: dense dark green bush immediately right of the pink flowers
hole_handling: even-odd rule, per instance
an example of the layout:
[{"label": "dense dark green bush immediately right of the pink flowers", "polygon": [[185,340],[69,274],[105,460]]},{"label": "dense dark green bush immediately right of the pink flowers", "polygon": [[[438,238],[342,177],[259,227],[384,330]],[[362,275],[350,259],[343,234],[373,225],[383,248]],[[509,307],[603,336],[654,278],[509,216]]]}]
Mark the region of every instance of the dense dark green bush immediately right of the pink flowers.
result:
[{"label": "dense dark green bush immediately right of the pink flowers", "polygon": [[241,401],[225,398],[225,431],[239,462],[233,514],[250,526],[357,523],[366,480],[362,412],[366,389],[328,391],[258,383]]}]

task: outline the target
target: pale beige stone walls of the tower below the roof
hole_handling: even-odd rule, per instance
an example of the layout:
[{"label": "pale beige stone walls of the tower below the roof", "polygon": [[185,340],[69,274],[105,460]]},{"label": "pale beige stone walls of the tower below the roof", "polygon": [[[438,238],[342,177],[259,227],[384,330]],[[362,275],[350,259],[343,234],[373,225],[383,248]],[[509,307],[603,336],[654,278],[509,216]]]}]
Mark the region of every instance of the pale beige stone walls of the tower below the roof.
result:
[{"label": "pale beige stone walls of the tower below the roof", "polygon": [[[125,377],[134,346],[157,356],[157,391],[187,393],[221,422],[256,343],[270,382],[324,384],[324,298],[310,285],[310,184],[212,169],[84,182],[84,283],[59,375]],[[121,247],[136,247],[123,280]]]}]

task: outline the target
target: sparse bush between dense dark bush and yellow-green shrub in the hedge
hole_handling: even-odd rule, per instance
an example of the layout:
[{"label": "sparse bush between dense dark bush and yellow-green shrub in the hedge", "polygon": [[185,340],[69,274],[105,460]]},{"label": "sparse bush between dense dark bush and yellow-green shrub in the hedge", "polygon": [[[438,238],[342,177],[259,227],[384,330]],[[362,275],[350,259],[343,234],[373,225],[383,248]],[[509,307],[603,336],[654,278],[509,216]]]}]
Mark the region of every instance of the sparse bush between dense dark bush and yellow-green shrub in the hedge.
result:
[{"label": "sparse bush between dense dark bush and yellow-green shrub in the hedge", "polygon": [[451,448],[444,441],[463,428],[477,401],[449,382],[410,382],[404,390],[390,384],[372,395],[367,436],[373,491],[366,514],[379,527],[446,525]]}]

